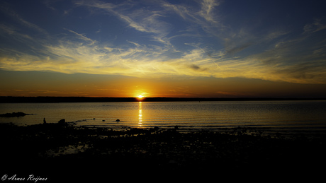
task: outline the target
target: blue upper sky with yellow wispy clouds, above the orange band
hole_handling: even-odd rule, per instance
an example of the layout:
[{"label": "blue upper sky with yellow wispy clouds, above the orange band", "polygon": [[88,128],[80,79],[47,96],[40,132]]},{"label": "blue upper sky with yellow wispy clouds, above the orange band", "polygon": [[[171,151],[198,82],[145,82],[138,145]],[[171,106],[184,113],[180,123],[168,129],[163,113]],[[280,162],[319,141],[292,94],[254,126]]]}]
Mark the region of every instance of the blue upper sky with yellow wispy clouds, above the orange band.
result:
[{"label": "blue upper sky with yellow wispy clouds, above the orange band", "polygon": [[153,82],[245,78],[325,89],[325,5],[1,1],[0,72],[84,73]]}]

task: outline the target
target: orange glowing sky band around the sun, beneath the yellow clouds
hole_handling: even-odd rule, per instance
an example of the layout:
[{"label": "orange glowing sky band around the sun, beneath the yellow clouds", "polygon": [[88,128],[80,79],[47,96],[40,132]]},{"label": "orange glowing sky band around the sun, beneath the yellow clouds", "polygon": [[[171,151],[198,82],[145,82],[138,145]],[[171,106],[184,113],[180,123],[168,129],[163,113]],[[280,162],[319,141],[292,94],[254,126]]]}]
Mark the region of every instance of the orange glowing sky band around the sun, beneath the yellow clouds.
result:
[{"label": "orange glowing sky band around the sun, beneath the yellow clouds", "polygon": [[0,78],[10,78],[2,81],[0,96],[136,98],[138,101],[145,98],[325,96],[325,85],[322,84],[307,85],[246,78],[119,78],[13,71],[0,72]]}]

